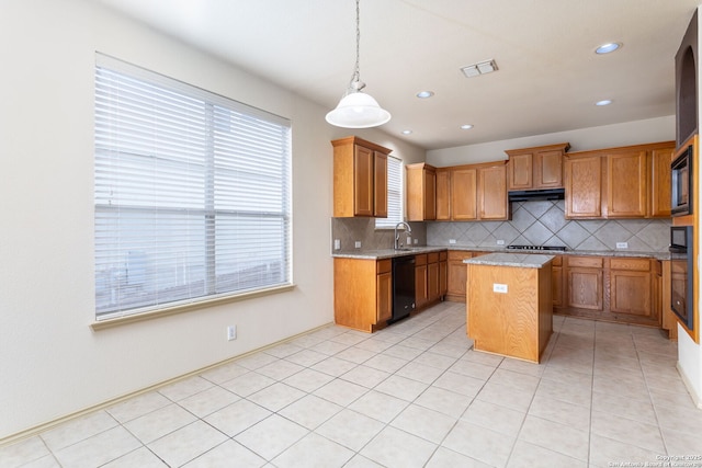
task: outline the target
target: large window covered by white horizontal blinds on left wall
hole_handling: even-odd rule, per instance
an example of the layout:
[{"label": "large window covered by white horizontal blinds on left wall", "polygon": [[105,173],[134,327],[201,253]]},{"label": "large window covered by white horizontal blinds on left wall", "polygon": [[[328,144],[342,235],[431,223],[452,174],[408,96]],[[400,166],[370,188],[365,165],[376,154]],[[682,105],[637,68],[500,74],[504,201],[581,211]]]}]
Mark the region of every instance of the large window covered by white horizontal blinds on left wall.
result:
[{"label": "large window covered by white horizontal blinds on left wall", "polygon": [[291,284],[290,123],[105,56],[98,319]]}]

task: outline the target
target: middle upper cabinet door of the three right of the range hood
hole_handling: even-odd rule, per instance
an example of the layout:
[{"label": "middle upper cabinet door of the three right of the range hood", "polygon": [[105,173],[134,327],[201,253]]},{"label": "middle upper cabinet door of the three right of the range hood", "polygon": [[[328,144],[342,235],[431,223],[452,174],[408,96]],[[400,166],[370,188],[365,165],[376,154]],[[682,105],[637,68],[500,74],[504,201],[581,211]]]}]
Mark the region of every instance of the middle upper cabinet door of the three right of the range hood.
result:
[{"label": "middle upper cabinet door of the three right of the range hood", "polygon": [[607,156],[607,217],[643,218],[648,192],[646,151]]}]

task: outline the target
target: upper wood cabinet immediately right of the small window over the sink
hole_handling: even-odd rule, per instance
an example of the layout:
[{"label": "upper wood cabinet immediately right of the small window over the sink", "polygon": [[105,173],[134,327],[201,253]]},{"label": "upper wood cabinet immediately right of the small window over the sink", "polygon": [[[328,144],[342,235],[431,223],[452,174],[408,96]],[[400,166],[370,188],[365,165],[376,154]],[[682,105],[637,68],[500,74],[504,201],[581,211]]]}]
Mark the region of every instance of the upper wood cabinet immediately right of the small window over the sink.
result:
[{"label": "upper wood cabinet immediately right of the small window over the sink", "polygon": [[437,170],[420,162],[405,165],[407,187],[407,220],[437,219]]}]

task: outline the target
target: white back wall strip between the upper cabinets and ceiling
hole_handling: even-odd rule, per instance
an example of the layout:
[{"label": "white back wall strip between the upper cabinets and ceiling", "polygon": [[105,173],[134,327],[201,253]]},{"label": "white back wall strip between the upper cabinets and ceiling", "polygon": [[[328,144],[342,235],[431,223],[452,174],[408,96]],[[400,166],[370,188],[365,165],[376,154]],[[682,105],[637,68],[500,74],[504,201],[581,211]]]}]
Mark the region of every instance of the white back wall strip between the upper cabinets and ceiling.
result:
[{"label": "white back wall strip between the upper cabinets and ceiling", "polygon": [[531,148],[566,141],[570,144],[569,152],[574,152],[675,139],[676,117],[675,115],[669,115],[646,121],[430,150],[427,151],[427,162],[443,168],[446,165],[499,161],[507,159],[505,150],[508,149]]}]

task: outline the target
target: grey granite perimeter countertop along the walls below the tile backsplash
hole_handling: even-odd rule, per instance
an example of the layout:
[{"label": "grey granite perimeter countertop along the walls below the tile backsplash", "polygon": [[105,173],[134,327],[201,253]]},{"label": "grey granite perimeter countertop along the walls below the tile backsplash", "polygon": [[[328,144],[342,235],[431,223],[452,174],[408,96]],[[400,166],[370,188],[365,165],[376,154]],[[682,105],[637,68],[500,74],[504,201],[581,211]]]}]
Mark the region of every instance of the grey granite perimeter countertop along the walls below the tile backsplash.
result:
[{"label": "grey granite perimeter countertop along the walls below the tile backsplash", "polygon": [[[645,256],[656,260],[670,260],[673,255],[670,252],[641,252],[634,250],[509,250],[503,247],[471,247],[471,246],[423,246],[414,247],[409,250],[394,250],[394,249],[380,249],[380,250],[355,250],[355,251],[335,251],[331,252],[331,256],[337,259],[365,259],[365,260],[382,260],[392,259],[395,256],[416,255],[420,253],[441,252],[444,250],[457,250],[457,251],[472,251],[472,252],[490,252],[490,253],[505,253],[509,255],[519,254],[546,254],[546,255],[579,255],[579,256]],[[545,253],[548,252],[548,253]]]}]

